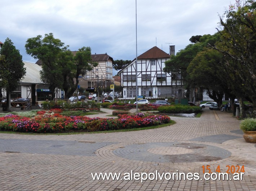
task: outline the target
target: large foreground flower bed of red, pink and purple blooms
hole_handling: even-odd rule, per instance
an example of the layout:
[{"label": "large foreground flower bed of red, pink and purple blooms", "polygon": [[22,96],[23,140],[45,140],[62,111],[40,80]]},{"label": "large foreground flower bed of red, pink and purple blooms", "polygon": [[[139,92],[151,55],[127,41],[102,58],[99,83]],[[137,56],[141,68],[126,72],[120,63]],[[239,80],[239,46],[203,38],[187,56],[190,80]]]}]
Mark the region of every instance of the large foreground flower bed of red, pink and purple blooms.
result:
[{"label": "large foreground flower bed of red, pink and purple blooms", "polygon": [[61,109],[39,111],[35,117],[7,115],[0,117],[1,131],[17,132],[69,132],[69,131],[106,131],[131,129],[165,124],[170,118],[165,115],[118,115],[118,118],[90,118],[86,116],[63,116]]}]

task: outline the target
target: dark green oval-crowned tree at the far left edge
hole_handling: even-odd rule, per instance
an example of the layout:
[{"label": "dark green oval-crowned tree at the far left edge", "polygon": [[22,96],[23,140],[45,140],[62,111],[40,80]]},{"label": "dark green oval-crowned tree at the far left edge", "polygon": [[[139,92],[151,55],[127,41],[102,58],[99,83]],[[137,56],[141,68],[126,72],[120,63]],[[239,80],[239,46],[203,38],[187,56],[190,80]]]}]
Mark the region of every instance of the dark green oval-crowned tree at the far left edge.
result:
[{"label": "dark green oval-crowned tree at the far left edge", "polygon": [[8,110],[10,110],[10,93],[18,87],[19,81],[26,74],[26,68],[19,50],[9,38],[6,38],[0,55],[0,87],[4,87],[6,90]]}]

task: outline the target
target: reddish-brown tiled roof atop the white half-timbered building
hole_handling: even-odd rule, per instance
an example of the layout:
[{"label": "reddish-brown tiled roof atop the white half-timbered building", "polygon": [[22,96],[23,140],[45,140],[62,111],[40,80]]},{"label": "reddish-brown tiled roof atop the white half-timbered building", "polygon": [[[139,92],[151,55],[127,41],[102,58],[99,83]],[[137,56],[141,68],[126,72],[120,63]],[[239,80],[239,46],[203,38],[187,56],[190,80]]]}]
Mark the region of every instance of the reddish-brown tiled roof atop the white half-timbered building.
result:
[{"label": "reddish-brown tiled roof atop the white half-timbered building", "polygon": [[150,48],[148,51],[144,52],[142,55],[138,56],[137,59],[164,59],[170,58],[170,55],[166,52],[162,51],[160,48],[154,46]]}]

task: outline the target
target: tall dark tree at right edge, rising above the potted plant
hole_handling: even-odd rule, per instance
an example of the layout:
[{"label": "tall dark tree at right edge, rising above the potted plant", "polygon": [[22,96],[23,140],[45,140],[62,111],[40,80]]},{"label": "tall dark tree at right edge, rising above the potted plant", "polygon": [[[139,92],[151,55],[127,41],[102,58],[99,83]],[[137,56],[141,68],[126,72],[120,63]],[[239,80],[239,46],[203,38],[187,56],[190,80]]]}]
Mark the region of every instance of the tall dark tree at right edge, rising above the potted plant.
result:
[{"label": "tall dark tree at right edge, rising above the potted plant", "polygon": [[[233,8],[233,9],[232,9]],[[232,87],[240,101],[244,98],[253,103],[256,114],[256,2],[249,0],[237,10],[231,7],[225,12],[226,21],[220,17],[222,41],[215,46],[226,61]],[[241,102],[240,107],[243,106]],[[243,107],[241,107],[242,114]],[[243,116],[243,115],[242,115]]]}]

